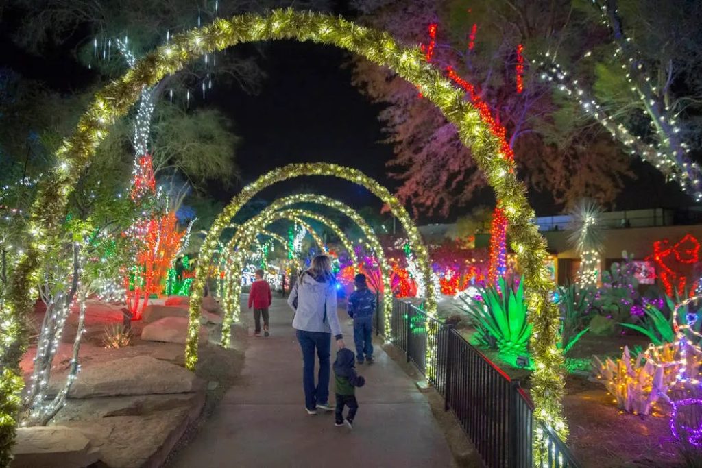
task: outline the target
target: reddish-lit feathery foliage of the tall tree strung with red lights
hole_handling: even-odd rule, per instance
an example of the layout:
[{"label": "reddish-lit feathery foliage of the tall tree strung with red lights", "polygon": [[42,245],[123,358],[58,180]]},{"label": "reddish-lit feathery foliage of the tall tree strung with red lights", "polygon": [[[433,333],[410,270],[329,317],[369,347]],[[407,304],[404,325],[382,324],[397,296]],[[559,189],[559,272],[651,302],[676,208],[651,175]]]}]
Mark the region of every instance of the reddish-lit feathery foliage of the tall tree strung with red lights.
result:
[{"label": "reddish-lit feathery foliage of the tall tree strung with red lights", "polygon": [[[383,2],[364,20],[409,44],[423,44],[426,58],[453,75],[481,114],[489,114],[494,133],[506,138],[503,153],[516,154],[532,187],[552,192],[560,203],[584,195],[612,201],[629,174],[628,159],[617,149],[590,151],[600,136],[589,123],[576,122],[576,128],[571,123],[562,132],[550,118],[560,102],[525,65],[530,51],[543,47],[567,23],[564,2],[452,1],[442,8],[438,3]],[[416,88],[362,59],[355,62],[355,83],[371,99],[389,104],[380,113],[387,141],[395,145],[389,166],[402,180],[397,194],[412,203],[415,213],[445,215],[484,187],[456,129]]]}]

